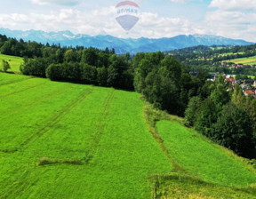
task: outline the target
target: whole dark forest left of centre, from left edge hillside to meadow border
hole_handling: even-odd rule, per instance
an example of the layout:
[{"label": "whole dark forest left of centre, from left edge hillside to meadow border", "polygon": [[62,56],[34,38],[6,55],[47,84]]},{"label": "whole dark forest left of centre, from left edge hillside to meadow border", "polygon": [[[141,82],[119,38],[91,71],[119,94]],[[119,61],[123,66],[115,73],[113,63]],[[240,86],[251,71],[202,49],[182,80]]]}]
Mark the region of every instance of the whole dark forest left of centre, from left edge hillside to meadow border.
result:
[{"label": "whole dark forest left of centre, from left edge hillside to meadow border", "polygon": [[129,53],[116,56],[115,50],[104,51],[83,46],[60,47],[52,44],[24,42],[0,35],[3,54],[24,57],[20,71],[28,76],[133,90],[133,70]]}]

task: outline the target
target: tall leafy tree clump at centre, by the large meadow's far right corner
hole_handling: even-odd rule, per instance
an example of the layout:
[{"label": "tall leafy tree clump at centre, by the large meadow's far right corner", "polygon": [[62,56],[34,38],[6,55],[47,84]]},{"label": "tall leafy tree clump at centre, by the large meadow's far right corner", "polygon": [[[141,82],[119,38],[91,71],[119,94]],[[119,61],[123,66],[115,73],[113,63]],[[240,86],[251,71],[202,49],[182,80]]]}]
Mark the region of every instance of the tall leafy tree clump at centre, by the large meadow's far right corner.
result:
[{"label": "tall leafy tree clump at centre, by the large meadow's far right corner", "polygon": [[184,115],[188,100],[198,94],[205,81],[205,76],[190,76],[179,61],[161,52],[140,52],[133,57],[132,65],[135,91],[175,115]]}]

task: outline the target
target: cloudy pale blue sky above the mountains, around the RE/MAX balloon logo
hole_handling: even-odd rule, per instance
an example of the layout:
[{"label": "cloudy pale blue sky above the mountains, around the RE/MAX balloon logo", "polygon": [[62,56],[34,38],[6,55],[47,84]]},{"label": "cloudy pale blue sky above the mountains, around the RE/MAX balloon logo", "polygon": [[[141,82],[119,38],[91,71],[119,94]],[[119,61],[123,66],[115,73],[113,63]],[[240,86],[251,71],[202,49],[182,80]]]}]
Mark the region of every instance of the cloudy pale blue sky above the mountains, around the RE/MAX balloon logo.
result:
[{"label": "cloudy pale blue sky above the mountains, around the RE/MAX balloon logo", "polygon": [[256,42],[256,1],[134,0],[140,20],[128,34],[115,20],[119,2],[0,0],[0,28],[134,38],[206,34]]}]

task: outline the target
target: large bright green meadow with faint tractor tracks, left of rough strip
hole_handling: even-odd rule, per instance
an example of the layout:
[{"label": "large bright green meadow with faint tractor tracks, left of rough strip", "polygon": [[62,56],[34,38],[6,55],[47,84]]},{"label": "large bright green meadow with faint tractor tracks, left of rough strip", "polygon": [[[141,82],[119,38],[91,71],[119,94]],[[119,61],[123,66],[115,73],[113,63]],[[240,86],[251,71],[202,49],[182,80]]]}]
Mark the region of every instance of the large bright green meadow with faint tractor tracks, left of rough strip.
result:
[{"label": "large bright green meadow with faint tractor tracks, left of rough strip", "polygon": [[172,170],[138,93],[3,73],[0,85],[0,198],[150,198],[148,176]]}]

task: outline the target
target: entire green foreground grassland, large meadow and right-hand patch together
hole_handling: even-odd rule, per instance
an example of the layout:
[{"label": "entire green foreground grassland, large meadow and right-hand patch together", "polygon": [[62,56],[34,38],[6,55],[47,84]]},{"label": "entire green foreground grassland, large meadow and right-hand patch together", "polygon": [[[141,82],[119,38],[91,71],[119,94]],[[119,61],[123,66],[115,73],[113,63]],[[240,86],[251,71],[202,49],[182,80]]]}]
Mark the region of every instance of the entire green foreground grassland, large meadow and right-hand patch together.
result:
[{"label": "entire green foreground grassland, large meadow and right-hand patch together", "polygon": [[160,143],[138,93],[0,73],[0,113],[0,198],[253,198],[255,171],[196,131],[161,121]]}]

